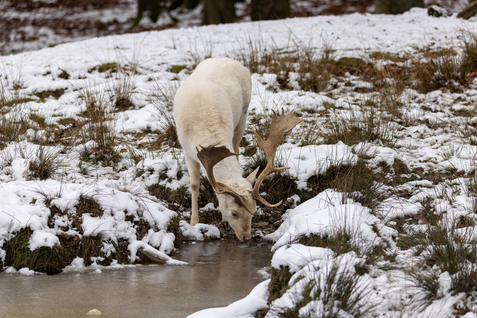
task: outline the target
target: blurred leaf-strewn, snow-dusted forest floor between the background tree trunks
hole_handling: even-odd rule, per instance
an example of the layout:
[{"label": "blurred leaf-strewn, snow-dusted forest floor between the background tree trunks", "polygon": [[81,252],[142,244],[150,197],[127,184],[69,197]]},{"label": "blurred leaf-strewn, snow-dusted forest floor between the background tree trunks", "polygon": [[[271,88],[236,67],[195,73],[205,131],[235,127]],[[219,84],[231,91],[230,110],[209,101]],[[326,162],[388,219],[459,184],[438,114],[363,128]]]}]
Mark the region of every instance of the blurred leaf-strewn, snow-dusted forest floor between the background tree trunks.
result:
[{"label": "blurred leaf-strewn, snow-dusted forest floor between the background tree trunks", "polygon": [[[166,1],[170,3],[171,1]],[[344,15],[374,12],[373,0],[290,0],[291,17]],[[467,5],[467,0],[425,0],[425,7],[439,5],[454,13]],[[250,0],[236,2],[239,22],[250,21]],[[179,7],[166,12],[153,23],[147,14],[139,26],[132,28],[136,0],[0,0],[0,54],[38,50],[60,43],[95,36],[137,33],[150,30],[179,29],[199,26],[203,4],[193,10]]]}]

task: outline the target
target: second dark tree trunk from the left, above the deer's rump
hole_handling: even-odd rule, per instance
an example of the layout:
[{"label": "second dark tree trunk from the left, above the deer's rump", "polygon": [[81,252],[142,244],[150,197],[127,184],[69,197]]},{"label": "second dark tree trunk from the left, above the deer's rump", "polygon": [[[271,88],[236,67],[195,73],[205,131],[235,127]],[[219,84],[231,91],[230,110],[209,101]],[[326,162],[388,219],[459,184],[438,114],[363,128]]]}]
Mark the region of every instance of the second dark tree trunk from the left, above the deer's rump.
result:
[{"label": "second dark tree trunk from the left, above the deer's rump", "polygon": [[231,23],[237,21],[234,0],[205,0],[202,24]]}]

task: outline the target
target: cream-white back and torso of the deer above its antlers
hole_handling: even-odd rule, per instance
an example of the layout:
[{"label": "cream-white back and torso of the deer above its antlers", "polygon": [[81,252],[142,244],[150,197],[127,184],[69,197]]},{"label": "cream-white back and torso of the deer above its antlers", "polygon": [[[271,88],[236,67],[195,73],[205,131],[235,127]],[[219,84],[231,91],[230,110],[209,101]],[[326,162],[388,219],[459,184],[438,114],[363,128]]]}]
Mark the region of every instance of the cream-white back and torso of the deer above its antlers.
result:
[{"label": "cream-white back and torso of the deer above its antlers", "polygon": [[[197,144],[230,144],[250,102],[250,72],[231,59],[207,59],[177,90],[174,117],[179,141],[189,154]],[[204,144],[205,143],[205,144]]]}]

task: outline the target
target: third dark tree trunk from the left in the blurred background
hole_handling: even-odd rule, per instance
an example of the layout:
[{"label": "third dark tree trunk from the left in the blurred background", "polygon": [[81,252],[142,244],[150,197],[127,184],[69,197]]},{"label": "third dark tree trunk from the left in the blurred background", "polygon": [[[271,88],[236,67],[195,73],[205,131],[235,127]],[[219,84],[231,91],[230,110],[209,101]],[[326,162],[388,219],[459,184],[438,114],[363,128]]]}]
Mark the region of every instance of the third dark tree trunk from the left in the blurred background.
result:
[{"label": "third dark tree trunk from the left in the blurred background", "polygon": [[252,0],[250,7],[252,21],[290,18],[288,0]]}]

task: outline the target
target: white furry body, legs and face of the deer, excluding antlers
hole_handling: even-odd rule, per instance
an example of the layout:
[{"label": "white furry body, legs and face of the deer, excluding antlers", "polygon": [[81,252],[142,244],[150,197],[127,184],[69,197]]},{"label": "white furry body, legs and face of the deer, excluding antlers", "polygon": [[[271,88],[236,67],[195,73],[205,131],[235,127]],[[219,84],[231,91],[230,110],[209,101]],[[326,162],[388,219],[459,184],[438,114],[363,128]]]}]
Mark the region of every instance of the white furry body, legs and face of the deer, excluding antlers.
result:
[{"label": "white furry body, legs and face of the deer, excluding antlers", "polygon": [[[250,94],[250,72],[240,62],[228,58],[201,62],[176,92],[174,117],[192,190],[191,225],[198,223],[197,197],[201,165],[196,147],[200,149],[199,144],[204,147],[220,144],[231,152],[237,151],[245,132]],[[255,211],[255,200],[250,196],[255,174],[243,178],[235,156],[216,164],[214,176],[218,182],[243,195],[249,208]],[[222,220],[228,221],[241,241],[249,240],[252,215],[237,205],[230,195],[217,195],[217,198]]]}]

